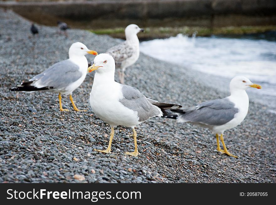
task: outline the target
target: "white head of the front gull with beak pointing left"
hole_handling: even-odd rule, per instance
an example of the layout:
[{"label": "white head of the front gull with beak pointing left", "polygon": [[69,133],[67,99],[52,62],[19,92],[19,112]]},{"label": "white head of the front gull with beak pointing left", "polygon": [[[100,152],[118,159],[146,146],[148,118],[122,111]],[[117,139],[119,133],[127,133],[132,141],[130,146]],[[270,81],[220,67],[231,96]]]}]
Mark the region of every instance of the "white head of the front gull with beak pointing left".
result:
[{"label": "white head of the front gull with beak pointing left", "polygon": [[101,53],[94,58],[94,64],[88,67],[87,72],[97,71],[98,73],[115,72],[115,60],[106,53]]}]

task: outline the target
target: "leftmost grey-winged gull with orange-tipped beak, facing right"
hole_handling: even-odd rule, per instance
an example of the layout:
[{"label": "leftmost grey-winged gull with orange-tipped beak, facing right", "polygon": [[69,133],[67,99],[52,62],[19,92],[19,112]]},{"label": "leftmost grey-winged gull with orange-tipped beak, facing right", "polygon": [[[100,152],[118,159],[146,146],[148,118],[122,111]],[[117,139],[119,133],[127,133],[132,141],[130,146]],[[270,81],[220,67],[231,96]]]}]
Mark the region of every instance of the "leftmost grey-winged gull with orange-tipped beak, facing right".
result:
[{"label": "leftmost grey-winged gull with orange-tipped beak, facing right", "polygon": [[60,61],[50,66],[44,72],[34,76],[26,82],[11,88],[11,91],[50,91],[59,93],[60,111],[63,109],[61,104],[61,94],[69,95],[75,111],[79,110],[72,98],[72,92],[79,87],[87,74],[88,61],[86,54],[98,55],[94,50],[89,50],[86,45],[76,42],[69,49],[69,59]]}]

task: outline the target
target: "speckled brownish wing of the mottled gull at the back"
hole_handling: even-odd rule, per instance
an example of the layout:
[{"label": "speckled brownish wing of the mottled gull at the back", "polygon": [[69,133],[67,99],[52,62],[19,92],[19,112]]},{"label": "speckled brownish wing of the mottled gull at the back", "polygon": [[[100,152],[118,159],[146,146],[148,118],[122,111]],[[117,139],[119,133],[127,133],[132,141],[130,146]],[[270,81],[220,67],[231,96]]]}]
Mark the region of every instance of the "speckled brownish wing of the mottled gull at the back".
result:
[{"label": "speckled brownish wing of the mottled gull at the back", "polygon": [[130,58],[133,55],[134,50],[126,41],[124,41],[123,43],[111,47],[105,51],[105,53],[110,54],[114,58],[116,68],[121,68],[122,62]]}]

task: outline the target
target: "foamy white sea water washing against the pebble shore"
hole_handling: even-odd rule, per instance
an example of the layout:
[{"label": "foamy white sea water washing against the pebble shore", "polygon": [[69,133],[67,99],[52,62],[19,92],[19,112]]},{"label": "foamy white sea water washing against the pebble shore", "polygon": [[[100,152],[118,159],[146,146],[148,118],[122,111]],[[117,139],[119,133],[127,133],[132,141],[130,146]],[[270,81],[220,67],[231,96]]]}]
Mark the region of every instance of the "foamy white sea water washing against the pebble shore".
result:
[{"label": "foamy white sea water washing against the pebble shore", "polygon": [[246,76],[276,98],[276,32],[258,35],[188,37],[178,34],[140,44],[141,52],[229,80]]}]

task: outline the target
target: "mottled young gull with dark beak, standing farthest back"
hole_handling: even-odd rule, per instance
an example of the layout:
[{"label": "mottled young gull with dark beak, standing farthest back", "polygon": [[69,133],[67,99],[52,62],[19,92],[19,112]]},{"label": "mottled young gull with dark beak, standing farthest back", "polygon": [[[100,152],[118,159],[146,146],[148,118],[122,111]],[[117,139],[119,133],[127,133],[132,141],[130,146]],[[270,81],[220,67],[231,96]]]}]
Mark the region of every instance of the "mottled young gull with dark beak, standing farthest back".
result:
[{"label": "mottled young gull with dark beak, standing farthest back", "polygon": [[[118,69],[120,83],[124,84],[125,68],[133,65],[139,58],[140,45],[137,34],[144,32],[135,24],[130,24],[125,28],[125,41],[108,49],[105,53],[113,56]],[[121,71],[120,71],[121,70]]]}]

